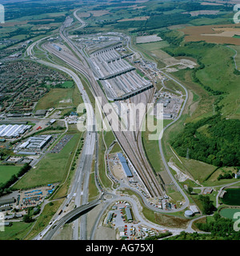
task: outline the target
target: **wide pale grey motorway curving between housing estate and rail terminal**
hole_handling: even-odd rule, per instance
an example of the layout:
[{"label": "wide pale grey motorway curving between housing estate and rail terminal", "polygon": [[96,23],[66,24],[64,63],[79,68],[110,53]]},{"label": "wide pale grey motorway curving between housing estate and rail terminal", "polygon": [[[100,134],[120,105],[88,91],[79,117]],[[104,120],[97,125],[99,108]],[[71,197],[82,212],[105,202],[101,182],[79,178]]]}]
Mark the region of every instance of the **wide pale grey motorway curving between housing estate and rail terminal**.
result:
[{"label": "wide pale grey motorway curving between housing estate and rail terminal", "polygon": [[[69,74],[71,78],[74,79],[74,82],[78,86],[79,91],[82,93],[82,99],[83,102],[87,103],[85,105],[86,107],[86,114],[87,114],[87,121],[86,121],[86,130],[93,130],[94,129],[94,111],[90,103],[90,98],[86,94],[86,91],[84,90],[82,86],[82,82],[80,78],[78,78],[78,75],[75,74],[72,70],[67,69],[66,67],[63,66],[58,66],[56,64],[50,63],[50,62],[45,62],[42,60],[38,60],[38,58],[34,57],[34,46],[38,45],[39,42],[42,42],[42,40],[46,40],[46,38],[42,38],[38,40],[37,42],[34,42],[30,47],[27,49],[27,54],[32,58],[34,61],[41,63],[46,66],[50,66],[53,68],[56,68],[58,70],[62,70],[66,74]],[[88,184],[89,184],[89,175],[91,171],[91,162],[94,158],[94,147],[95,147],[95,142],[96,142],[96,136],[94,132],[87,132],[86,133],[86,138],[85,138],[85,143],[82,148],[82,155],[81,155],[81,161],[80,164],[78,165],[78,168],[75,173],[75,178],[74,182],[71,186],[70,194],[68,194],[66,198],[65,204],[62,206],[61,209],[59,210],[66,210],[66,205],[69,205],[70,201],[75,197],[75,205],[80,206],[81,204],[86,204],[87,203],[87,198],[88,198]],[[84,193],[83,193],[84,191]],[[82,199],[82,201],[81,201]],[[59,218],[59,216],[54,216],[54,222]],[[86,217],[83,217],[86,218]],[[52,224],[53,225],[53,224]],[[84,227],[86,226],[86,221],[82,222],[82,239],[85,238],[86,231],[84,231]],[[74,239],[78,239],[78,220],[74,222]],[[46,231],[50,229],[50,226],[46,228],[46,230],[43,230],[42,234],[46,234]],[[40,235],[38,235],[37,239],[41,238]]]}]

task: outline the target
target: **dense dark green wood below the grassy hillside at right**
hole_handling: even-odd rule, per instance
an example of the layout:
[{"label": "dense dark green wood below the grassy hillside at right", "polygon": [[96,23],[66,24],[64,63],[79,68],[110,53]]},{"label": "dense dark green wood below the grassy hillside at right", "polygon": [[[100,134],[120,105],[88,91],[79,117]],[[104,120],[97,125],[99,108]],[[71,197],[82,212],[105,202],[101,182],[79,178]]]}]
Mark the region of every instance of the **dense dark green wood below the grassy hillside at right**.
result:
[{"label": "dense dark green wood below the grassy hillside at right", "polygon": [[[204,132],[201,129],[204,129]],[[171,141],[177,153],[214,166],[240,166],[240,120],[215,114],[187,123]]]}]

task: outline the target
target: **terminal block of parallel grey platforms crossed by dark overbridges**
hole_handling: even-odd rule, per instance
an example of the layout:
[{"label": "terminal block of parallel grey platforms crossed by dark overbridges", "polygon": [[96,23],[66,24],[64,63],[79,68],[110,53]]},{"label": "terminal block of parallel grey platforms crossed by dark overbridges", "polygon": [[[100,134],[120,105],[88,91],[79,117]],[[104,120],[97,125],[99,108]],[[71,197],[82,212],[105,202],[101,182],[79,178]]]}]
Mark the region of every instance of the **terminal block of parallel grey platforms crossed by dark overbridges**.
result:
[{"label": "terminal block of parallel grey platforms crossed by dark overbridges", "polygon": [[106,97],[110,100],[122,101],[154,87],[124,59],[130,55],[121,56],[115,47],[98,50],[90,55],[98,83],[101,84]]}]

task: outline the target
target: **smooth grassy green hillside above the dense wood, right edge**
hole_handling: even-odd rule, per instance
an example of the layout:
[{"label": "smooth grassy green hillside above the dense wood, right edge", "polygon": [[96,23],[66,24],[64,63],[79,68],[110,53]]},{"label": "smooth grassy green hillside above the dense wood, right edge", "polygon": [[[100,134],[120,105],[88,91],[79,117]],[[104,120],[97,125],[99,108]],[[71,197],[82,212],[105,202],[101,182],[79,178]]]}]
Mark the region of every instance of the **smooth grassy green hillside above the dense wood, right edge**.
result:
[{"label": "smooth grassy green hillside above the dense wood, right edge", "polygon": [[[234,74],[233,50],[226,46],[208,44],[205,42],[188,42],[184,46],[166,47],[167,50],[174,56],[190,56],[198,59],[202,63],[202,68],[198,70],[181,70],[179,74],[186,74],[186,72],[193,75],[195,72],[195,79],[198,86],[202,88],[209,88],[216,95],[217,91],[223,94],[222,114],[227,118],[240,118],[238,114],[238,94],[236,91],[240,90],[239,77]],[[219,59],[219,56],[221,58]],[[216,72],[218,70],[218,72]],[[174,75],[178,76],[178,72]],[[180,76],[178,76],[180,79]],[[198,79],[198,80],[197,80]],[[211,92],[209,93],[209,98]]]}]

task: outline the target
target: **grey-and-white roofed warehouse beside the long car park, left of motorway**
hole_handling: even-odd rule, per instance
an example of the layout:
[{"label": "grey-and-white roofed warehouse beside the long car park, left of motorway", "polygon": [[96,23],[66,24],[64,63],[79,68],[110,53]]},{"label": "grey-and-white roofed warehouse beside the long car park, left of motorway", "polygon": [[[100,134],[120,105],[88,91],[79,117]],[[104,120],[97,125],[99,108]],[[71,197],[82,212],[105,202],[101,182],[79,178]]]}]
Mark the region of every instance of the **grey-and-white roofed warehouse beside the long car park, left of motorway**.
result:
[{"label": "grey-and-white roofed warehouse beside the long car park, left of motorway", "polygon": [[50,142],[51,138],[51,135],[39,135],[36,137],[30,137],[26,142],[23,142],[19,148],[27,150],[42,150],[42,148],[46,146],[48,142]]}]

